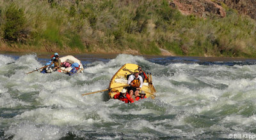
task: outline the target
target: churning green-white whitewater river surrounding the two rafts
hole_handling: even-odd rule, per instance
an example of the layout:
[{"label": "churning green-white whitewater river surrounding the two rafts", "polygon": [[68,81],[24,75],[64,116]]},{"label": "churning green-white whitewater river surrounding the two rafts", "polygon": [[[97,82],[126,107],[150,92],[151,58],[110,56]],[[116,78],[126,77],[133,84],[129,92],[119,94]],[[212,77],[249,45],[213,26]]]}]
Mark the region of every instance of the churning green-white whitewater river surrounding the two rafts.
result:
[{"label": "churning green-white whitewater river surrounding the two rafts", "polygon": [[[41,74],[49,58],[0,55],[0,139],[207,139],[256,135],[256,60],[81,57],[84,73]],[[125,63],[152,73],[155,99],[109,99]],[[239,134],[241,134],[241,137]],[[248,136],[248,137],[243,137]]]}]

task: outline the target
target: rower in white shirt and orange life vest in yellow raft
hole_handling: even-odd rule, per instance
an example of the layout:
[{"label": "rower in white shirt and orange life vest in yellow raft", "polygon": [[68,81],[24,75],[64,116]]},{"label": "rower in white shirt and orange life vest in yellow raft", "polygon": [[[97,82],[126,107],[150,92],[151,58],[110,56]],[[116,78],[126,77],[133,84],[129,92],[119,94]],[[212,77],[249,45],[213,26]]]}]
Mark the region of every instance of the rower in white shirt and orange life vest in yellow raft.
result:
[{"label": "rower in white shirt and orange life vest in yellow raft", "polygon": [[139,75],[138,69],[135,69],[134,74],[129,76],[127,84],[130,85],[130,87],[128,88],[130,96],[132,97],[132,95],[134,94],[135,97],[137,97],[139,95],[140,88],[143,85],[143,79]]}]

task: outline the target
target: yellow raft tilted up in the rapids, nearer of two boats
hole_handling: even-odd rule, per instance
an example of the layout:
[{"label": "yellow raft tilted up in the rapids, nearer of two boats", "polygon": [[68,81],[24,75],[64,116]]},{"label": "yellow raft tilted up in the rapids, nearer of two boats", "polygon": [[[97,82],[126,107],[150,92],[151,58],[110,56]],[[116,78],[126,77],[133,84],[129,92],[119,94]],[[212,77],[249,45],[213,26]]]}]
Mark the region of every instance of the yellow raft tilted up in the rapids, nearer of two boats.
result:
[{"label": "yellow raft tilted up in the rapids, nearer of two boats", "polygon": [[[127,76],[129,76],[130,74],[133,74],[134,70],[138,69],[138,67],[139,66],[136,64],[125,64],[115,73],[115,75],[113,76],[113,78],[109,83],[109,88],[112,89],[108,93],[110,98],[113,98],[115,94],[117,94],[118,92],[121,92],[123,87],[127,85],[127,79],[128,79]],[[143,82],[143,86],[141,90],[143,90],[146,93],[147,97],[151,97],[152,99],[154,99],[154,97],[156,96],[154,95],[154,93],[156,92],[156,89],[152,85],[151,74],[147,76],[148,76],[148,80],[145,80]],[[118,88],[115,88],[115,87],[118,87]]]}]

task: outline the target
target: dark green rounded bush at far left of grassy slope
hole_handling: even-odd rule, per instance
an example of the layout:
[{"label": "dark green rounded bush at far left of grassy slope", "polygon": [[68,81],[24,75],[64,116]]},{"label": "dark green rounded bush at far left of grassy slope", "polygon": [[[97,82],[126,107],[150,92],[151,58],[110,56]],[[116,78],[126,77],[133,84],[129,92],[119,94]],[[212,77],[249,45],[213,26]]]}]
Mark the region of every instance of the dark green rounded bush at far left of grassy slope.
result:
[{"label": "dark green rounded bush at far left of grassy slope", "polygon": [[17,8],[15,4],[10,4],[5,12],[6,23],[4,25],[4,39],[18,41],[26,33],[26,18],[24,10]]}]

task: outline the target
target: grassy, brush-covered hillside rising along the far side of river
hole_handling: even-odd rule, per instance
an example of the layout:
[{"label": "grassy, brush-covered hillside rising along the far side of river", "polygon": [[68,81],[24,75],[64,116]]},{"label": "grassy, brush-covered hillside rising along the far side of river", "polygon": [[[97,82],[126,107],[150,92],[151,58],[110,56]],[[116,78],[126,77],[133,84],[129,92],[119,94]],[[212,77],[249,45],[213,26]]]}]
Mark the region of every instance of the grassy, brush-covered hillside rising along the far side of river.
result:
[{"label": "grassy, brush-covered hillside rising along the far side of river", "polygon": [[15,52],[256,57],[255,20],[221,6],[225,17],[182,15],[167,0],[0,1],[0,46]]}]

